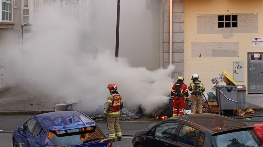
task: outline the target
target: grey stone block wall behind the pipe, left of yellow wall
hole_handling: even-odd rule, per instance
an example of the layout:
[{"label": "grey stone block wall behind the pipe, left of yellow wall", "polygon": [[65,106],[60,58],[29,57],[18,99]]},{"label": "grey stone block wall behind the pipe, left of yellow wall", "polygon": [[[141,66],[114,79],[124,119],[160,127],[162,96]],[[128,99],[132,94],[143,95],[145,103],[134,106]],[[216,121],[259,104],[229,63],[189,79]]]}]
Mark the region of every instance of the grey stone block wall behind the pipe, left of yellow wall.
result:
[{"label": "grey stone block wall behind the pipe, left of yellow wall", "polygon": [[[169,42],[170,42],[170,1],[165,0],[163,13],[163,67],[169,66]],[[172,3],[172,64],[175,70],[172,79],[184,76],[184,0],[173,0]]]}]

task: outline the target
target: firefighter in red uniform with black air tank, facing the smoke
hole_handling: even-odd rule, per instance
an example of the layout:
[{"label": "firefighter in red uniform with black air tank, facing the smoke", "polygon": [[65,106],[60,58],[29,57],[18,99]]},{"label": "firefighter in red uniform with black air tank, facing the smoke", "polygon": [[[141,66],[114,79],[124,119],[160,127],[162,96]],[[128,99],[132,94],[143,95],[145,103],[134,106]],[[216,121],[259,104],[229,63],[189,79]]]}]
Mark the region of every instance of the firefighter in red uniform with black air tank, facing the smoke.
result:
[{"label": "firefighter in red uniform with black air tank, facing the smoke", "polygon": [[171,97],[173,98],[173,116],[183,115],[185,102],[184,98],[188,99],[188,89],[187,86],[183,83],[184,77],[178,76],[177,82],[173,85],[171,91]]}]

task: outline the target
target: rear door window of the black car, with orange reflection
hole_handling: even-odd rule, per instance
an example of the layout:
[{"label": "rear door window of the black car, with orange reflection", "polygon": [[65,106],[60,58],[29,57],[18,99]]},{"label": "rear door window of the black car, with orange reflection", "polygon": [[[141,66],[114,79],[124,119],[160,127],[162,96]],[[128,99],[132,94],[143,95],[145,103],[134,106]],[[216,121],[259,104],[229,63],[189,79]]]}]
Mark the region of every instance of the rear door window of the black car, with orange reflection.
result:
[{"label": "rear door window of the black car, with orange reflection", "polygon": [[198,130],[196,130],[195,128],[182,125],[176,141],[194,146],[197,138],[197,132]]}]

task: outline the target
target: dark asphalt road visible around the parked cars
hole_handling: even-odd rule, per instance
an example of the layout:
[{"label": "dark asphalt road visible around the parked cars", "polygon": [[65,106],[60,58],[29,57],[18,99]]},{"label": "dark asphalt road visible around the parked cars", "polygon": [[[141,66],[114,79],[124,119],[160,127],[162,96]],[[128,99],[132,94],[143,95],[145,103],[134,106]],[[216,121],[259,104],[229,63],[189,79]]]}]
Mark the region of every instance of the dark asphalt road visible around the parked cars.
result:
[{"label": "dark asphalt road visible around the parked cars", "polygon": [[[15,129],[15,126],[23,124],[27,119],[33,115],[21,115],[21,116],[0,116],[0,147],[12,147],[12,132]],[[240,116],[231,116],[232,118],[241,118]],[[263,112],[255,112],[255,116],[263,116]],[[253,125],[255,123],[263,122],[263,117],[252,117],[239,119],[240,121],[245,122],[248,125]],[[254,122],[252,122],[254,121]],[[132,147],[132,137],[135,132],[142,130],[144,128],[150,128],[159,121],[150,121],[144,119],[144,121],[124,121],[120,122],[122,129],[122,141],[116,141],[113,143],[115,147]],[[97,122],[98,126],[108,134],[107,123],[106,122]]]}]

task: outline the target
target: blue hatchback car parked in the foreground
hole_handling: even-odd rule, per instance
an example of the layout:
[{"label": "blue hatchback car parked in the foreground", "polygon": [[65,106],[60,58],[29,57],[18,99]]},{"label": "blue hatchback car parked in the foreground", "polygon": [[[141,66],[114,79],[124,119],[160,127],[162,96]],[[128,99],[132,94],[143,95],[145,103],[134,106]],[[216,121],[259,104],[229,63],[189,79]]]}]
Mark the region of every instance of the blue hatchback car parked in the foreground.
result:
[{"label": "blue hatchback car parked in the foreground", "polygon": [[13,132],[14,147],[112,147],[113,140],[87,115],[58,111],[32,116]]}]

